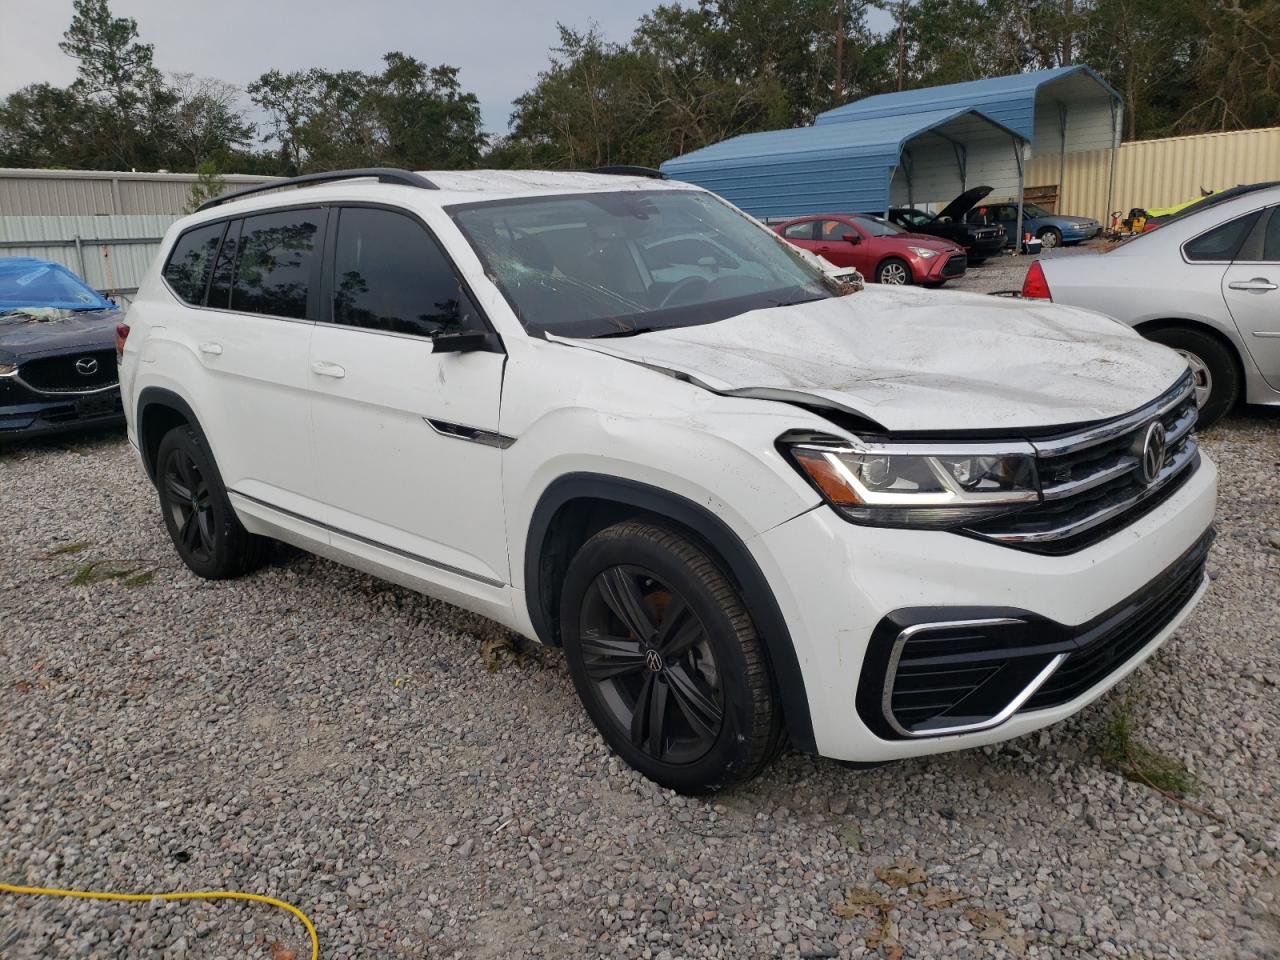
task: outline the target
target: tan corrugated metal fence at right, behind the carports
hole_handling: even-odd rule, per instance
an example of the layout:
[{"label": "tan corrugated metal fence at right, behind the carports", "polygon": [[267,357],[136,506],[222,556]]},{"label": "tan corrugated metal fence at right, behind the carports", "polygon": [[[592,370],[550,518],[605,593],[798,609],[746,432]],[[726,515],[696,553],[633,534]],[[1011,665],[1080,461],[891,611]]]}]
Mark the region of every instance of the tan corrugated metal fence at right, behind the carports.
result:
[{"label": "tan corrugated metal fence at right, behind the carports", "polygon": [[[1111,151],[1068,154],[1057,209],[1064,214],[1110,221],[1107,177]],[[1199,196],[1201,187],[1222,189],[1238,183],[1280,179],[1280,127],[1231,133],[1203,133],[1121,143],[1111,207],[1161,207]],[[1028,187],[1059,183],[1059,157],[1036,156],[1027,168]]]}]

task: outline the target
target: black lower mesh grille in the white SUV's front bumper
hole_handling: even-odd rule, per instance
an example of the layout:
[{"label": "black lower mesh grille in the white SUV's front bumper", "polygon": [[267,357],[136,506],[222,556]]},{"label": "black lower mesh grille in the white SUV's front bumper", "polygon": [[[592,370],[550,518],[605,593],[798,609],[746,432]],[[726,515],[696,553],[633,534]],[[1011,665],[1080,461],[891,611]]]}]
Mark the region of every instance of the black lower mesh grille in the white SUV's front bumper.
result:
[{"label": "black lower mesh grille in the white SUV's front bumper", "polygon": [[1023,705],[1042,710],[1074,700],[1123,667],[1183,611],[1204,580],[1212,532],[1138,594],[1102,614],[1076,636],[1079,649]]}]

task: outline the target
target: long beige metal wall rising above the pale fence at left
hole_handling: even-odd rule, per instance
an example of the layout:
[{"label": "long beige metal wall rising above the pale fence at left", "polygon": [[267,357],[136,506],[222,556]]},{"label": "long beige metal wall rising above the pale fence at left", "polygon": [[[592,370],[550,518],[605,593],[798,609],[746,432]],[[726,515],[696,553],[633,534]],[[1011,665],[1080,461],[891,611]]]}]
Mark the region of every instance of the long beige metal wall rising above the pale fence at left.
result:
[{"label": "long beige metal wall rising above the pale fence at left", "polygon": [[[228,175],[229,188],[271,177]],[[192,173],[0,169],[0,216],[184,212],[197,177]]]}]

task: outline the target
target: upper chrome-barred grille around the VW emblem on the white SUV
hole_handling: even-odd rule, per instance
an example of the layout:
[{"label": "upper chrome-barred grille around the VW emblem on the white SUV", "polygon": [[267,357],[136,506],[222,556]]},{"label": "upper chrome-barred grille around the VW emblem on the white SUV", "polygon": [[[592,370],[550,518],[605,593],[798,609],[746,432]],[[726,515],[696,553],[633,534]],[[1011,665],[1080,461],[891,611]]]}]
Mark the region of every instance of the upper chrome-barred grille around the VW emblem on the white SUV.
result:
[{"label": "upper chrome-barred grille around the VW emblem on the white SUV", "polygon": [[[1198,411],[1187,374],[1153,403],[1083,433],[1036,440],[1042,500],[978,524],[969,532],[1036,553],[1071,553],[1110,536],[1153,509],[1199,465],[1192,434]],[[1142,476],[1143,442],[1152,421],[1166,449],[1155,479]]]}]

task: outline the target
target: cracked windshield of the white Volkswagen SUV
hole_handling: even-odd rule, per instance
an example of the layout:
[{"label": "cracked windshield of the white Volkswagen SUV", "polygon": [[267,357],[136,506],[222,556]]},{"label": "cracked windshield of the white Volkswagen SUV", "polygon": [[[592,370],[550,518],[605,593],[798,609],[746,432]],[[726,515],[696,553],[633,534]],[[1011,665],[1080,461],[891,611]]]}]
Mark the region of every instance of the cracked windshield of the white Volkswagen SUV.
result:
[{"label": "cracked windshield of the white Volkswagen SUV", "polygon": [[833,296],[785,241],[707,193],[576,193],[449,214],[535,333],[620,337]]}]

